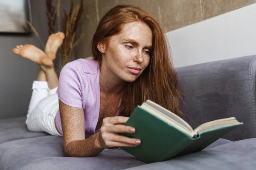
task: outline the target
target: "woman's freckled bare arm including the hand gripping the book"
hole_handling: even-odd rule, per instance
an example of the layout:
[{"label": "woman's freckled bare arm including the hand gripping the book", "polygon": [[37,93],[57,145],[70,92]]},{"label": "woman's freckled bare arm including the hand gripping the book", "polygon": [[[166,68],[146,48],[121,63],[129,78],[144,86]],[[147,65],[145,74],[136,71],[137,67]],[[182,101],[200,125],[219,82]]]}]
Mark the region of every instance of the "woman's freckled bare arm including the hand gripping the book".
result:
[{"label": "woman's freckled bare arm including the hand gripping the book", "polygon": [[[100,131],[85,139],[84,111],[68,106],[59,100],[64,139],[64,154],[70,157],[90,157],[110,147],[136,147],[139,139],[118,133],[135,133],[134,127],[123,125],[128,117],[115,116],[103,119]],[[139,142],[137,142],[139,141]]]}]

